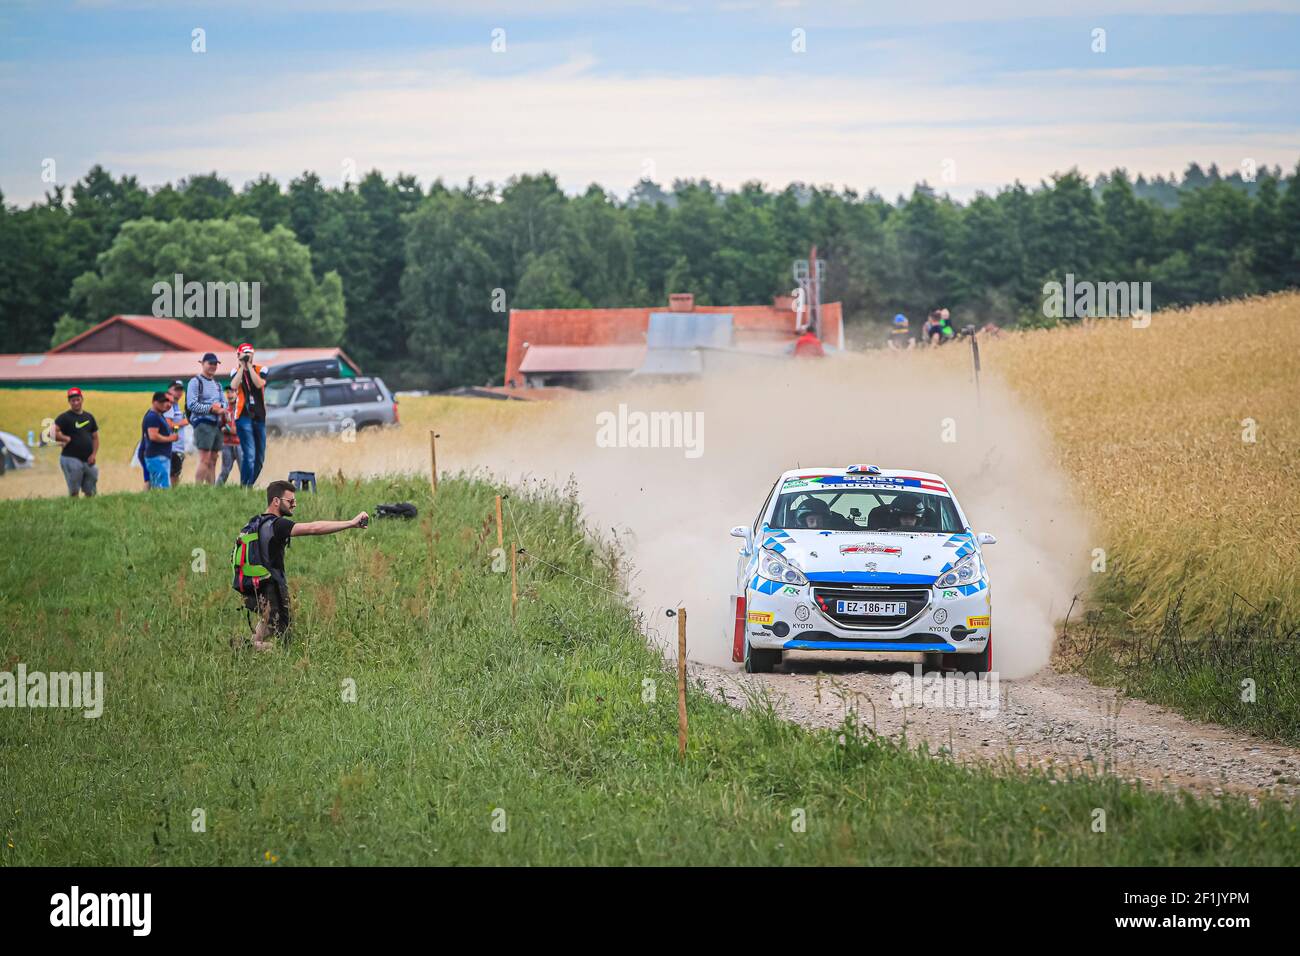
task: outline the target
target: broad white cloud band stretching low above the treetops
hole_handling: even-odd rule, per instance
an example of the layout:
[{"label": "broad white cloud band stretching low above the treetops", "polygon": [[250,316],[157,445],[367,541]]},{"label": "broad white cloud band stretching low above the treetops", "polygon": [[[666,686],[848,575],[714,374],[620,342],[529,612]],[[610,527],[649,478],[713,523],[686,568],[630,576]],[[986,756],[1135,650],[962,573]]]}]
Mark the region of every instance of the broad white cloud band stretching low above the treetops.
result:
[{"label": "broad white cloud band stretching low above the treetops", "polygon": [[[1089,79],[1065,72],[942,87],[915,78],[620,78],[593,75],[585,62],[510,77],[404,66],[312,77],[312,99],[295,86],[268,91],[256,111],[231,103],[203,120],[138,125],[96,160],[146,179],[216,168],[237,183],[263,170],[287,181],[304,168],[337,178],[343,159],[426,183],[547,169],[569,190],[594,181],[616,191],[653,160],[662,182],[802,179],[893,196],[919,179],[970,195],[1075,165],[1162,172],[1249,156],[1290,168],[1300,152],[1295,130],[1200,118],[1235,108],[1239,88]],[[957,164],[954,183],[941,179],[946,159]]]}]

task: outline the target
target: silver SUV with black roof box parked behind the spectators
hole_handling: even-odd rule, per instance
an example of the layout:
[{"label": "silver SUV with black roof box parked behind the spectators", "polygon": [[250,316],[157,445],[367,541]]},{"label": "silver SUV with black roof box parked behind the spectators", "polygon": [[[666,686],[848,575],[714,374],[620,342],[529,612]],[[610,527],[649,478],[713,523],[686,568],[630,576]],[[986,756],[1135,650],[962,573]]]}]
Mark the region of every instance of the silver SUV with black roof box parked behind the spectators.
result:
[{"label": "silver SUV with black roof box parked behind the spectators", "polygon": [[295,378],[266,382],[266,436],[326,434],[398,424],[398,399],[382,378]]}]

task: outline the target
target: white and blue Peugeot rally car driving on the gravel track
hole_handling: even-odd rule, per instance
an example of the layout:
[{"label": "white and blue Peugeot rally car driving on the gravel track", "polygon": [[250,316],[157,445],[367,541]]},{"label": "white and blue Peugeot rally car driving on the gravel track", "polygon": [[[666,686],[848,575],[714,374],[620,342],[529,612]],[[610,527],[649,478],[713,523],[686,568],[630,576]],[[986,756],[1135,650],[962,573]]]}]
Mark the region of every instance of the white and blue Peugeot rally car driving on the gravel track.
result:
[{"label": "white and blue Peugeot rally car driving on the gravel track", "polygon": [[745,540],[732,596],[732,659],[770,671],[786,650],[913,652],[931,666],[993,666],[988,571],[937,475],[797,468],[772,485]]}]

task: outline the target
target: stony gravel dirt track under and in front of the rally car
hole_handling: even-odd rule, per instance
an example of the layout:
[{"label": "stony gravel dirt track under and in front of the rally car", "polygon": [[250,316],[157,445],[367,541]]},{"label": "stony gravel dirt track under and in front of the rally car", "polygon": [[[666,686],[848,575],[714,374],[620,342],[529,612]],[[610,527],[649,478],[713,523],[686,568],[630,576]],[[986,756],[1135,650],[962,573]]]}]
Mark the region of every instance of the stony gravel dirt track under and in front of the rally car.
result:
[{"label": "stony gravel dirt track under and in front of the rally car", "polygon": [[[1000,682],[987,708],[897,706],[907,691],[892,683],[910,663],[792,661],[785,672],[744,674],[692,665],[690,674],[736,706],[767,692],[776,711],[809,727],[835,727],[846,709],[859,726],[890,737],[950,749],[958,760],[1014,761],[1018,766],[1072,767],[1161,788],[1200,793],[1300,793],[1300,750],[1216,724],[1188,721],[1083,678],[1044,669]],[[893,698],[893,701],[892,701]],[[996,702],[994,702],[996,700]],[[949,704],[952,698],[949,700]]]}]

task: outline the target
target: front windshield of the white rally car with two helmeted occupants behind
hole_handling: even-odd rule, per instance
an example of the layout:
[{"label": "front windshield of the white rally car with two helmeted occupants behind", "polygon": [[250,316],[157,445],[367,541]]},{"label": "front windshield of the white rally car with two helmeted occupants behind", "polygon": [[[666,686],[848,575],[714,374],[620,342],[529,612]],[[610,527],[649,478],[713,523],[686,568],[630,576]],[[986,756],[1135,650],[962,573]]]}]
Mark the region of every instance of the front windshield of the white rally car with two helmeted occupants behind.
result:
[{"label": "front windshield of the white rally car with two helmeted occupants behind", "polygon": [[772,528],[796,531],[898,531],[954,535],[962,528],[953,499],[926,492],[827,488],[786,492],[776,499]]}]

